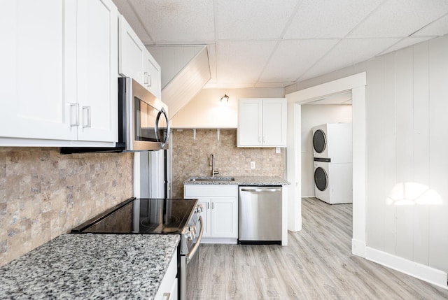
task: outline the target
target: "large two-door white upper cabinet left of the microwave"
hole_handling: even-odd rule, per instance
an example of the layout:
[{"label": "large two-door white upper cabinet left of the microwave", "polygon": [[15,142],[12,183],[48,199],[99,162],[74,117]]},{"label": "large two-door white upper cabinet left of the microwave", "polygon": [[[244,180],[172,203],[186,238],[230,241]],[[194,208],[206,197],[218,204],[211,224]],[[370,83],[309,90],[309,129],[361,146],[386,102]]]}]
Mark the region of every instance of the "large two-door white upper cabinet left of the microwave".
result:
[{"label": "large two-door white upper cabinet left of the microwave", "polygon": [[0,145],[118,140],[117,22],[109,0],[1,4]]}]

